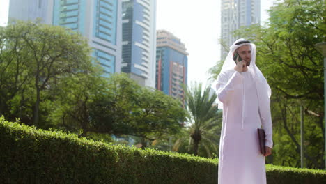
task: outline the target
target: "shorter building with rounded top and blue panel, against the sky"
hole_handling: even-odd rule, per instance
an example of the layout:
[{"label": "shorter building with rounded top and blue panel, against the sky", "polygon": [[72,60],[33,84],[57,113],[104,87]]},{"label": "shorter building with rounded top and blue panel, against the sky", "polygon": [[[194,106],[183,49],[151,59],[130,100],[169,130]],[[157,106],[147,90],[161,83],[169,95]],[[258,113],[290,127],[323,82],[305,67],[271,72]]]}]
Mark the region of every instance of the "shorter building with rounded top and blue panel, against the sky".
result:
[{"label": "shorter building with rounded top and blue panel, against the sky", "polygon": [[185,44],[168,31],[157,31],[156,89],[184,101],[188,53]]}]

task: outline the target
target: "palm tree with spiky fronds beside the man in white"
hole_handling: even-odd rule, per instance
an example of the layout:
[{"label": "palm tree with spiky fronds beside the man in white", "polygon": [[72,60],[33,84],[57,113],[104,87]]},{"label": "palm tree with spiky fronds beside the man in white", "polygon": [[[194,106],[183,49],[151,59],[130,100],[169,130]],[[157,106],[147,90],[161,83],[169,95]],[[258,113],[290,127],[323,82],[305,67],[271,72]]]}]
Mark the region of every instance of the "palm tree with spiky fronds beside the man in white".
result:
[{"label": "palm tree with spiky fronds beside the man in white", "polygon": [[[218,108],[214,104],[217,95],[210,94],[210,86],[202,89],[202,84],[194,84],[191,89],[185,90],[185,102],[189,112],[187,127],[189,133],[189,145],[193,146],[194,155],[198,155],[199,148],[204,149],[208,157],[211,157],[211,149],[217,151],[219,124]],[[178,139],[174,149],[178,149],[185,141]]]}]

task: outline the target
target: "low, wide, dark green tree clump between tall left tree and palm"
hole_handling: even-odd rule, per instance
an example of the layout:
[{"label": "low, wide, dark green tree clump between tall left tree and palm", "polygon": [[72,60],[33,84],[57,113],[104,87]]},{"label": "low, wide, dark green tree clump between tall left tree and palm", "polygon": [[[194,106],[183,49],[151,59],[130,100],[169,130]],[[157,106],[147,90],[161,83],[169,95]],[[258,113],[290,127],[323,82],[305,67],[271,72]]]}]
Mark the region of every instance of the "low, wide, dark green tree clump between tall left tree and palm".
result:
[{"label": "low, wide, dark green tree clump between tall left tree and palm", "polygon": [[94,132],[130,135],[141,137],[146,146],[146,140],[178,132],[185,121],[178,100],[143,88],[125,74],[113,74],[109,79],[70,77],[63,82],[53,117],[61,122],[59,127],[82,132],[81,136]]}]

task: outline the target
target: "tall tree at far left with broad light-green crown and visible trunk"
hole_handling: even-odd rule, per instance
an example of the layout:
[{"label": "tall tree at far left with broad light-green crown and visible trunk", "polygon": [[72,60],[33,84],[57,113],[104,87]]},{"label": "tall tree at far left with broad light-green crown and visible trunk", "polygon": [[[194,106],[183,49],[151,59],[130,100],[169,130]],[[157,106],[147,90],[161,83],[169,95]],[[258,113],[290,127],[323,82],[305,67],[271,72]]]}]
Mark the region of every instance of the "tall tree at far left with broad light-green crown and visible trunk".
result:
[{"label": "tall tree at far left with broad light-green crown and visible trunk", "polygon": [[[86,40],[61,26],[12,22],[1,31],[1,43],[1,70],[8,76],[1,85],[16,82],[1,107],[20,91],[21,102],[25,98],[31,101],[33,125],[39,124],[40,103],[46,100],[43,92],[69,74],[91,70],[91,49]],[[26,89],[32,89],[33,97],[24,95]]]}]

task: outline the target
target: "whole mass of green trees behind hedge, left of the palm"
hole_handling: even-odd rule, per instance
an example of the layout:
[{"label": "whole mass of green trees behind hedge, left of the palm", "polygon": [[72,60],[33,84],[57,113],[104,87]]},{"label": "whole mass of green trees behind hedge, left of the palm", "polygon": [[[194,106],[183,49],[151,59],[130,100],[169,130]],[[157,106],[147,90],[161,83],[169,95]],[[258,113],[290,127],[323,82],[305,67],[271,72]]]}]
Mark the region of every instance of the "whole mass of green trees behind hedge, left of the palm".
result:
[{"label": "whole mass of green trees behind hedge, left of the palm", "polygon": [[88,137],[154,140],[180,130],[186,112],[178,100],[127,75],[102,77],[90,52],[79,33],[61,26],[16,21],[0,28],[0,114]]}]

